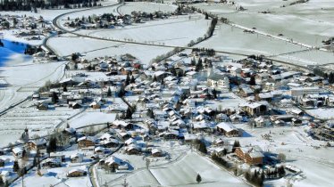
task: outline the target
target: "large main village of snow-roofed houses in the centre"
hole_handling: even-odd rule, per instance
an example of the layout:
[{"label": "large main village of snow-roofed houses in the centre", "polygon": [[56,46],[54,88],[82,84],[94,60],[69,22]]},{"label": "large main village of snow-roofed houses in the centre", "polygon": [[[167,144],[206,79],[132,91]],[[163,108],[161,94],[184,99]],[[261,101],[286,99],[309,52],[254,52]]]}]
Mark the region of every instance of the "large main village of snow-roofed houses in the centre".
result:
[{"label": "large main village of snow-roofed houses in the centre", "polygon": [[[4,183],[27,171],[51,175],[54,167],[62,167],[56,175],[67,180],[93,170],[93,181],[99,173],[127,174],[136,170],[136,161],[124,155],[146,158],[146,167],[153,160],[155,164],[172,161],[175,152],[162,143],[173,142],[211,155],[235,175],[244,174],[250,183],[262,185],[265,179],[286,174],[280,164],[285,155],[240,144],[238,137],[246,131],[235,124],[269,131],[275,126],[319,127],[317,133],[309,133],[332,140],[332,124],[306,115],[309,109],[334,104],[328,81],[262,56],[233,61],[214,50],[193,49],[154,62],[148,69],[130,54],[88,61],[73,53],[70,61],[63,80],[48,83],[31,96],[33,106],[98,111],[113,120],[81,129],[67,123],[52,135],[35,139],[26,129],[20,145],[2,150],[2,166],[13,168],[1,173]],[[270,136],[264,134],[263,139]],[[238,167],[242,163],[258,175]],[[285,168],[298,172],[289,165]]]}]

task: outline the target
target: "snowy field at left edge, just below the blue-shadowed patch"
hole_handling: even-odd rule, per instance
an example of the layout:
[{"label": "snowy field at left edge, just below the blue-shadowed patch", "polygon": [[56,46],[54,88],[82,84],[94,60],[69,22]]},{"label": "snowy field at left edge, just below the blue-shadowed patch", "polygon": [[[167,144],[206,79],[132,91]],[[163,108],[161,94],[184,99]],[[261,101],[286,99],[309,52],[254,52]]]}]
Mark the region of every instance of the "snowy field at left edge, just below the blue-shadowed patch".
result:
[{"label": "snowy field at left edge, just below the blue-shadowed patch", "polygon": [[31,61],[20,61],[20,64],[0,68],[0,109],[21,101],[46,81],[55,81],[63,77],[64,62],[36,64]]}]

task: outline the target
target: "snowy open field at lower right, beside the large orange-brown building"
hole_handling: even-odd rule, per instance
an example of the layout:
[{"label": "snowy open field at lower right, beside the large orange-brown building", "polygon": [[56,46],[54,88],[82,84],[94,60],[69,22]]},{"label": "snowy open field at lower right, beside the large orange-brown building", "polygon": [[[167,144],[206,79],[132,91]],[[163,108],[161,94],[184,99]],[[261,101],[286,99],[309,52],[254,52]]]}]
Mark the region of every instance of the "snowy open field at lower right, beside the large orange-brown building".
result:
[{"label": "snowy open field at lower right, beside the large orange-brown building", "polygon": [[[313,140],[307,135],[307,126],[251,128],[247,125],[236,125],[243,128],[247,137],[238,139],[241,145],[259,145],[264,151],[284,153],[285,164],[302,170],[301,175],[288,175],[279,181],[267,181],[273,186],[286,185],[290,180],[294,186],[332,186],[331,174],[334,169],[333,148],[324,148],[326,142]],[[271,133],[271,134],[270,134]],[[271,141],[264,140],[261,135],[270,134]],[[315,149],[319,147],[319,149]]]}]

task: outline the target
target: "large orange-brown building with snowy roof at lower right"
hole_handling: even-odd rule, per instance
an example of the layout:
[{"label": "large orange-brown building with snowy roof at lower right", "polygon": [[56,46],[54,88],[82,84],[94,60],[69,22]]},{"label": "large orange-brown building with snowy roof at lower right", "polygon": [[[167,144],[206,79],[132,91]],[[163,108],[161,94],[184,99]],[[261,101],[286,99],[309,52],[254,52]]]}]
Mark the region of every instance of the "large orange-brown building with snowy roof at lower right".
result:
[{"label": "large orange-brown building with snowy roof at lower right", "polygon": [[244,160],[249,165],[263,164],[263,153],[260,147],[238,147],[235,150],[239,159]]}]

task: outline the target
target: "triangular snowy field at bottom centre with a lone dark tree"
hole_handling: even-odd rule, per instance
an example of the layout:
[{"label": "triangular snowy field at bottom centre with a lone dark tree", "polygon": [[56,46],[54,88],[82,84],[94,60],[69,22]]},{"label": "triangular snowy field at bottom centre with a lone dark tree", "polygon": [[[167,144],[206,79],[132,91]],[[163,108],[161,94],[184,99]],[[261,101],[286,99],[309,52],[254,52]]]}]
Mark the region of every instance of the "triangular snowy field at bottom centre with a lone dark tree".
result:
[{"label": "triangular snowy field at bottom centre with a lone dark tree", "polygon": [[[202,177],[199,184],[196,183],[197,173]],[[188,152],[185,157],[171,165],[150,167],[149,170],[144,169],[134,175],[128,175],[126,179],[130,186],[248,186],[195,152]],[[119,180],[113,185],[121,183],[123,181]]]}]

